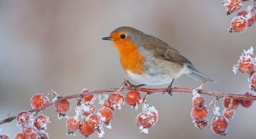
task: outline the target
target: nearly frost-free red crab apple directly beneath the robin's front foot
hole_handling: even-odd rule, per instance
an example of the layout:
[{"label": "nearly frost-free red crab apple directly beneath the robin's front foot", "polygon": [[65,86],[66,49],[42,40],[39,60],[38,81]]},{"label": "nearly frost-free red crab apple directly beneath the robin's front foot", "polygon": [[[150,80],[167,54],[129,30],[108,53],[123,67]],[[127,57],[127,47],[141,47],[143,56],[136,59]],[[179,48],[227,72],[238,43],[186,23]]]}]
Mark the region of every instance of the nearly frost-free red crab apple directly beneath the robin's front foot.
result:
[{"label": "nearly frost-free red crab apple directly beneath the robin's front foot", "polygon": [[140,93],[137,91],[130,91],[125,95],[125,101],[128,105],[136,106],[140,104],[141,96]]}]

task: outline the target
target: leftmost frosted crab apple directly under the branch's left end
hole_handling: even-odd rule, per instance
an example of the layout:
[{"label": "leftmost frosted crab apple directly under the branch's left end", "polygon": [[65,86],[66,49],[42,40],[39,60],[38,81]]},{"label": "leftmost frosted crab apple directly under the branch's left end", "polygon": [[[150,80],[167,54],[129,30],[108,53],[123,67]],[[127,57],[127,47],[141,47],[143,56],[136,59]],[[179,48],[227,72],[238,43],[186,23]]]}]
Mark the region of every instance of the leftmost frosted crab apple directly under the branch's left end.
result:
[{"label": "leftmost frosted crab apple directly under the branch's left end", "polygon": [[25,129],[30,125],[33,125],[34,118],[29,112],[22,111],[17,114],[17,126],[21,129]]}]

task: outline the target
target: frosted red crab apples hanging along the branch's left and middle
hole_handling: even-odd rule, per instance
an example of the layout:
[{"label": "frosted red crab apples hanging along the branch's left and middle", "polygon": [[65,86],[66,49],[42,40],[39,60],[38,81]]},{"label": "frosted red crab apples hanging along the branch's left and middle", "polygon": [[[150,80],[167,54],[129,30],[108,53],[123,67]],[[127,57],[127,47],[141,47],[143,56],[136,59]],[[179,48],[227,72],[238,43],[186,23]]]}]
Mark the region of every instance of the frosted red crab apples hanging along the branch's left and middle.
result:
[{"label": "frosted red crab apples hanging along the branch's left and middle", "polygon": [[[88,90],[84,89],[81,93],[87,93]],[[56,98],[53,101],[61,99],[60,96],[54,92]],[[102,99],[103,97],[103,99]],[[95,113],[95,106],[93,105],[94,100],[99,98],[102,108]],[[148,129],[152,128],[156,124],[158,119],[157,110],[145,104],[143,100],[143,112],[139,113],[136,117],[136,124],[139,126],[141,132],[148,133]],[[113,119],[113,111],[121,109],[124,105],[124,100],[128,105],[137,110],[137,105],[142,102],[140,93],[137,91],[130,91],[125,95],[125,98],[119,92],[115,92],[107,96],[106,94],[89,94],[84,97],[79,97],[75,113],[73,117],[68,117],[67,113],[70,110],[70,103],[68,100],[62,99],[54,104],[54,109],[58,113],[58,118],[68,118],[66,120],[66,128],[68,129],[68,136],[75,135],[74,132],[79,130],[85,138],[90,138],[95,131],[99,134],[99,137],[103,137],[105,127],[111,129],[110,122]],[[32,109],[41,108],[45,104],[49,103],[49,98],[46,94],[35,94],[31,97]],[[41,109],[40,112],[44,110]],[[45,129],[49,125],[49,117],[40,112],[30,113],[29,111],[22,111],[17,114],[17,126],[21,129],[21,133],[18,133],[15,139],[38,139],[38,138],[49,138]],[[82,121],[80,122],[79,116],[81,115]],[[6,136],[9,138],[8,136]]]}]

